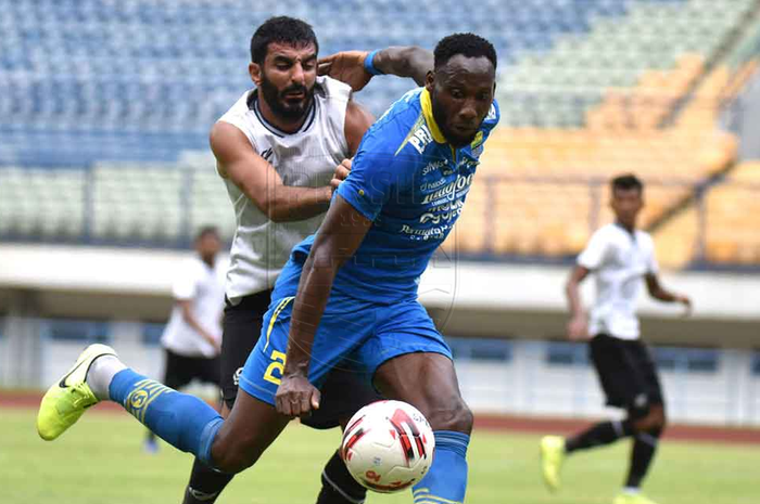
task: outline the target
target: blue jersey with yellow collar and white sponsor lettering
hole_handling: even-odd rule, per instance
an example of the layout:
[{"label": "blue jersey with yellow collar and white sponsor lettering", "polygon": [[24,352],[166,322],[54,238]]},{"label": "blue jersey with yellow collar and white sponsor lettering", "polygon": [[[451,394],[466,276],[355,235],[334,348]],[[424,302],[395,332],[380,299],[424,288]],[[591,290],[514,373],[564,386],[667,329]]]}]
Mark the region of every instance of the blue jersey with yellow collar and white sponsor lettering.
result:
[{"label": "blue jersey with yellow collar and white sponsor lettering", "polygon": [[[499,118],[494,101],[470,145],[453,148],[425,88],[406,93],[367,131],[337,193],[372,221],[338,271],[332,296],[391,303],[416,299],[419,277],[461,212],[483,143]],[[273,299],[294,295],[314,235],[293,248]]]}]

